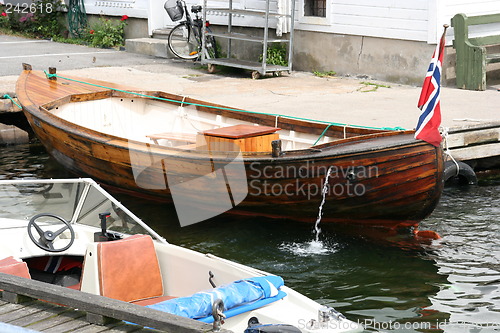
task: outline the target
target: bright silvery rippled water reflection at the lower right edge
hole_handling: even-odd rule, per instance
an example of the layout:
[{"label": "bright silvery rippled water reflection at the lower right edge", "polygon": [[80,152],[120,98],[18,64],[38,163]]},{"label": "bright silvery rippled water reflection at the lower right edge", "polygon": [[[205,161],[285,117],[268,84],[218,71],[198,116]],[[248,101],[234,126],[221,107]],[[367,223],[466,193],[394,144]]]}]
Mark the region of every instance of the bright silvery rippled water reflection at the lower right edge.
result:
[{"label": "bright silvery rippled water reflection at the lower right edge", "polygon": [[430,297],[431,308],[449,313],[450,322],[500,323],[499,217],[498,187],[485,186],[446,191],[441,209],[429,220],[443,235],[431,257],[438,273],[447,276]]}]

